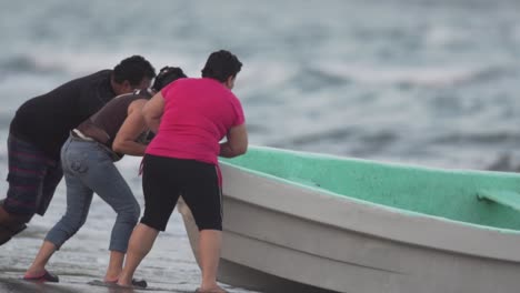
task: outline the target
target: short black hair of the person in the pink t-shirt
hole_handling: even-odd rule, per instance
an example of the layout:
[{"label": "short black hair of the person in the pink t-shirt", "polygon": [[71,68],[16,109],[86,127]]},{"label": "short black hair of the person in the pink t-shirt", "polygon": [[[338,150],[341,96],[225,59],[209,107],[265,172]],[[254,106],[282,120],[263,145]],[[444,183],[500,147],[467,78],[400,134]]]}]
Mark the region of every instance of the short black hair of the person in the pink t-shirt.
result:
[{"label": "short black hair of the person in the pink t-shirt", "polygon": [[212,52],[202,69],[202,78],[216,79],[226,82],[229,77],[236,77],[240,72],[242,63],[229,51]]}]

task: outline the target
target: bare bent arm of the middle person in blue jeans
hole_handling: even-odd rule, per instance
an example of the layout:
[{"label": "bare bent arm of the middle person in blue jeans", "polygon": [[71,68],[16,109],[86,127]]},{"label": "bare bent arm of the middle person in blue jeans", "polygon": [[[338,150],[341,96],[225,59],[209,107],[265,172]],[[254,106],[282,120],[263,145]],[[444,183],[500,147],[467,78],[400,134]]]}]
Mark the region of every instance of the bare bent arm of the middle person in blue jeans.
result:
[{"label": "bare bent arm of the middle person in blue jeans", "polygon": [[136,140],[148,129],[141,112],[146,103],[147,100],[139,99],[128,107],[128,117],[119,129],[118,134],[116,134],[116,139],[112,143],[112,150],[114,152],[130,155],[144,155],[147,145],[136,142]]}]

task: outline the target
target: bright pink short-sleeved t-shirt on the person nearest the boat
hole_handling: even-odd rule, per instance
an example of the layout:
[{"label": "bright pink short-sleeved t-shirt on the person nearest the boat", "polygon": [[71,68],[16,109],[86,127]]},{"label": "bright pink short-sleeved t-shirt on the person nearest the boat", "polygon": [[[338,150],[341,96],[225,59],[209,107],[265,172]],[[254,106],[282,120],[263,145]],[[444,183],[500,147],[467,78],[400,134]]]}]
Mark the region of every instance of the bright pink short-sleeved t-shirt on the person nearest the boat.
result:
[{"label": "bright pink short-sleeved t-shirt on the person nearest the boat", "polygon": [[164,112],[147,153],[218,164],[219,142],[244,123],[237,97],[213,79],[179,79],[161,90]]}]

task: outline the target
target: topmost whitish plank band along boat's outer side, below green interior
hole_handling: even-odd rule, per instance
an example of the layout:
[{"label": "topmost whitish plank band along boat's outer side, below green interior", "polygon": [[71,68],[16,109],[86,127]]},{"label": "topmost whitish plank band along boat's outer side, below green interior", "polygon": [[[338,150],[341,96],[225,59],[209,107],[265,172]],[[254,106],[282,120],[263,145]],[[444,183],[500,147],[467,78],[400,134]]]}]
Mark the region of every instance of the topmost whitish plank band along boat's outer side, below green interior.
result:
[{"label": "topmost whitish plank band along boat's outer side, below green interior", "polygon": [[[298,193],[298,201],[314,203],[314,206],[319,204],[320,211],[327,211],[318,213],[309,210],[306,213],[307,216],[303,218],[306,220],[412,245],[520,262],[520,252],[516,249],[516,245],[511,244],[520,242],[520,231],[402,210],[340,195],[326,189],[309,186],[264,172],[242,168],[231,162],[220,162],[220,164],[222,174],[227,178],[223,184],[223,195],[234,200],[303,218],[290,203],[288,204],[288,202],[292,202],[291,200],[277,201],[272,195],[269,196],[269,194],[274,194],[278,188],[284,188],[290,191],[284,194]],[[480,171],[476,172],[480,173]],[[234,178],[233,180],[237,180],[238,176],[240,178],[239,181],[260,179],[266,183],[261,184],[262,190],[273,192],[263,192],[262,196],[254,196],[252,192],[239,192],[236,195],[233,186],[229,183],[230,176]],[[307,196],[302,196],[302,193],[307,194]],[[296,200],[296,195],[292,196]],[[350,216],[350,219],[346,220],[338,216],[342,212],[344,213],[346,205],[348,205],[349,214],[354,213],[356,218]],[[343,210],[339,206],[342,206]],[[471,245],[467,245],[467,243],[471,243]]]}]

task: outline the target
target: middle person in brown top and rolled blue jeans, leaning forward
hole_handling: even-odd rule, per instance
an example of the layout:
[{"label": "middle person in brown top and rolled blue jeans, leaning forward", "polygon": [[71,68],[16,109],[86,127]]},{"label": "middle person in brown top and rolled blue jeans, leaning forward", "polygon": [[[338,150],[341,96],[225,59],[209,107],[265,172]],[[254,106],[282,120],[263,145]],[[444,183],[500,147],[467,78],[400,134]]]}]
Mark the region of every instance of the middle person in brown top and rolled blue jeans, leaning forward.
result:
[{"label": "middle person in brown top and rolled blue jeans, leaning forward", "polygon": [[[141,110],[144,103],[169,82],[186,78],[180,68],[163,68],[151,89],[117,97],[100,111],[71,131],[61,149],[62,169],[67,182],[67,212],[49,231],[24,280],[58,282],[46,270],[52,254],[84,223],[93,193],[110,204],[117,213],[110,239],[110,262],[104,282],[116,283],[122,270],[130,234],[140,209],[114,161],[123,154],[143,155],[148,132]],[[146,282],[134,281],[146,286]]]}]

